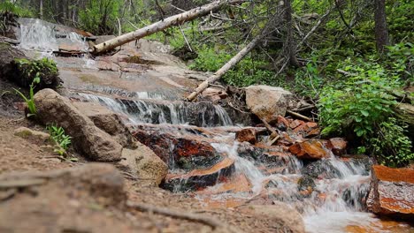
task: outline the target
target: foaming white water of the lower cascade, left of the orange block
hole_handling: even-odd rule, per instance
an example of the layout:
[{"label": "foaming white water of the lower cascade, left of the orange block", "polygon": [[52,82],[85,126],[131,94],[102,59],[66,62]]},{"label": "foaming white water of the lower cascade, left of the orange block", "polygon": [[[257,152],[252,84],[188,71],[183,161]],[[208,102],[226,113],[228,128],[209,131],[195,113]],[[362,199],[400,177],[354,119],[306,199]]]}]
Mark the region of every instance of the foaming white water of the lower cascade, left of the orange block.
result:
[{"label": "foaming white water of the lower cascade, left of the orange block", "polygon": [[[226,139],[226,141],[228,140]],[[307,232],[339,233],[345,232],[346,227],[350,225],[372,226],[372,223],[379,222],[373,214],[364,212],[360,202],[361,197],[364,197],[368,192],[370,181],[370,176],[364,176],[362,165],[355,162],[342,162],[331,154],[326,162],[337,169],[334,178],[315,179],[314,192],[310,197],[303,198],[297,194],[297,180],[302,177],[303,164],[295,156],[291,156],[288,169],[284,170],[284,174],[265,176],[253,162],[237,154],[238,142],[233,144],[212,143],[211,146],[219,153],[227,154],[235,160],[236,174],[244,174],[252,184],[250,198],[263,192],[265,182],[271,181],[276,187],[268,188],[268,192],[277,191],[278,195],[274,197],[275,200],[302,209]],[[326,169],[328,168],[326,167]],[[210,189],[212,190],[214,187]],[[347,200],[342,198],[345,192],[349,193]],[[322,194],[326,196],[325,199],[318,197]],[[236,199],[242,198],[238,193],[226,193],[218,194],[213,199],[228,199],[229,195],[233,195]],[[244,196],[244,198],[246,197]],[[378,232],[387,232],[378,230]]]}]

